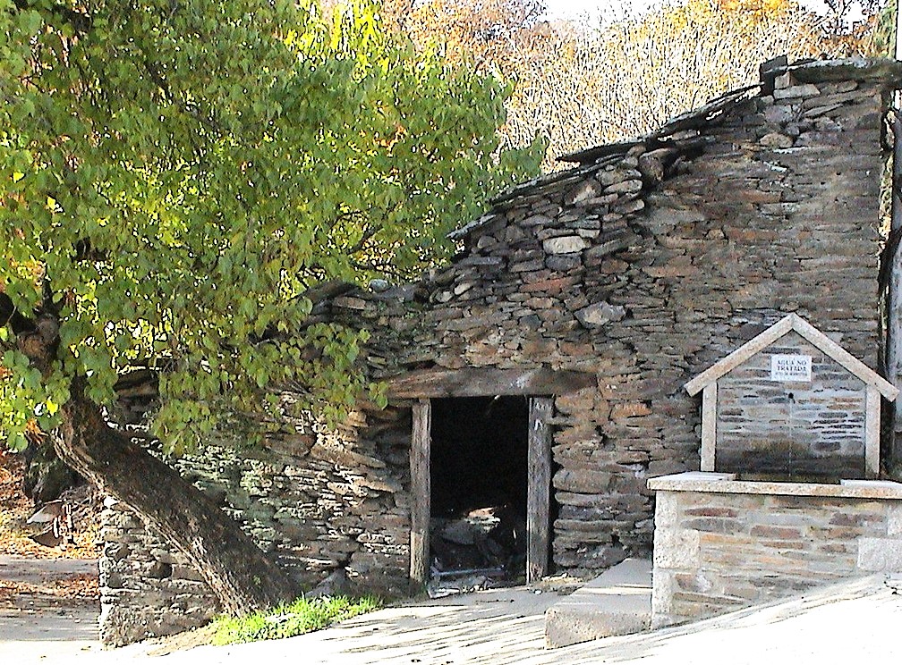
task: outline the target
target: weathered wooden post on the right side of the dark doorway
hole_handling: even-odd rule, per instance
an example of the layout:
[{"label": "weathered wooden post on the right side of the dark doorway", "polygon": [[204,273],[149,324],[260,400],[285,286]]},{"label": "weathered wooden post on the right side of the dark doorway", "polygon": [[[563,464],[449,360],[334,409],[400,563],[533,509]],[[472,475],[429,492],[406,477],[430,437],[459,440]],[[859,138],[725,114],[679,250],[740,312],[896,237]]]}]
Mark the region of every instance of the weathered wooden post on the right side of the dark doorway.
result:
[{"label": "weathered wooden post on the right side of the dark doorway", "polygon": [[548,531],[551,522],[551,397],[529,400],[529,478],[526,495],[526,581],[548,574]]}]

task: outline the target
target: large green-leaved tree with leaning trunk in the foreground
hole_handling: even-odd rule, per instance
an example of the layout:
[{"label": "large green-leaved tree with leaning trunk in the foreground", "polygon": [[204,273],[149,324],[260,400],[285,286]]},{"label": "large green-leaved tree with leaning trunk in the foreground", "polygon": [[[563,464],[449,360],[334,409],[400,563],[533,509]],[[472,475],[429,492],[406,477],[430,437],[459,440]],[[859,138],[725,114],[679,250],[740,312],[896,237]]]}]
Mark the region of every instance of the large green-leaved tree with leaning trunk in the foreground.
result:
[{"label": "large green-leaved tree with leaning trunk in the foreground", "polygon": [[161,373],[179,450],[269,387],[339,417],[365,334],[309,289],[407,278],[538,164],[498,150],[505,90],[387,36],[372,6],[0,0],[0,436],[50,437],[154,524],[226,609],[295,593],[241,528],[111,427]]}]

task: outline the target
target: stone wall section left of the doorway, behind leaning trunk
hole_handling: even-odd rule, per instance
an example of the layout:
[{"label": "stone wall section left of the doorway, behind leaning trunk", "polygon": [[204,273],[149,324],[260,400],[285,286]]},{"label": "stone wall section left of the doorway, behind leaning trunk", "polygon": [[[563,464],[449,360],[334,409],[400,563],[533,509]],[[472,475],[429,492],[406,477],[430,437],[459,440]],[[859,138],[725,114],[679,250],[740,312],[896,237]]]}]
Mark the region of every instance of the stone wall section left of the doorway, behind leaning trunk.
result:
[{"label": "stone wall section left of the doorway, behind leaning trunk", "polygon": [[[306,590],[397,596],[410,567],[410,409],[299,424],[262,447],[211,445],[172,463]],[[131,508],[102,515],[100,639],[121,646],[206,624],[216,596]]]}]

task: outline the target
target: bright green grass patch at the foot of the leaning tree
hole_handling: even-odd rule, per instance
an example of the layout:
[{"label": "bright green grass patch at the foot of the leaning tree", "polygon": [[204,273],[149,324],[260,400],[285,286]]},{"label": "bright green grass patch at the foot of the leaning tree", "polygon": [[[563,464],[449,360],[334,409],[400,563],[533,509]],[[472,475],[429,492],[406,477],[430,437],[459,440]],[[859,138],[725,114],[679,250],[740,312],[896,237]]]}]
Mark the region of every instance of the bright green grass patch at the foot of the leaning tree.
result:
[{"label": "bright green grass patch at the foot of the leaning tree", "polygon": [[378,597],[351,599],[345,596],[298,598],[271,610],[241,616],[220,616],[213,621],[214,644],[235,644],[259,640],[280,640],[318,631],[352,616],[372,612],[382,606]]}]

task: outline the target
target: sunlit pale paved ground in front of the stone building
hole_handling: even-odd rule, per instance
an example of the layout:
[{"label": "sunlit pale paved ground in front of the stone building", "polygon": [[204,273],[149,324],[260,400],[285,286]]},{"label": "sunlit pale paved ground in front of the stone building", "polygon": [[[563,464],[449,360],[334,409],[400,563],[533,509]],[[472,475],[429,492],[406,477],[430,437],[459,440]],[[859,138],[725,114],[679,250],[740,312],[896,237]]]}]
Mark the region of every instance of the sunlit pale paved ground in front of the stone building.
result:
[{"label": "sunlit pale paved ground in front of the stone building", "polygon": [[0,620],[0,662],[562,665],[641,661],[643,665],[722,665],[729,661],[742,665],[811,662],[815,658],[881,663],[902,656],[902,643],[897,639],[902,596],[887,588],[882,576],[842,582],[803,598],[686,626],[548,650],[544,648],[544,612],[559,599],[554,591],[493,590],[388,608],[290,640],[198,647],[165,656],[149,655],[159,651],[160,645],[154,643],[100,651],[97,642],[80,639],[75,633],[44,632],[53,627],[53,615],[35,615],[41,623],[32,626],[31,633],[22,624],[8,623],[4,616]]}]

